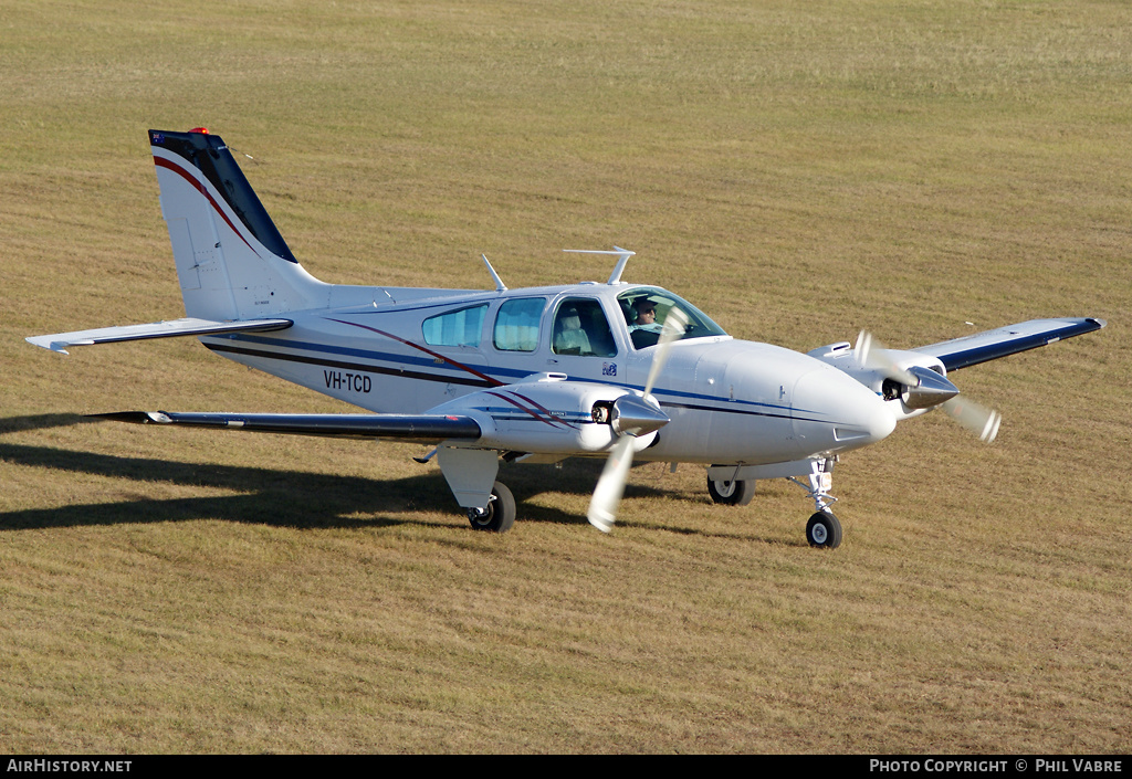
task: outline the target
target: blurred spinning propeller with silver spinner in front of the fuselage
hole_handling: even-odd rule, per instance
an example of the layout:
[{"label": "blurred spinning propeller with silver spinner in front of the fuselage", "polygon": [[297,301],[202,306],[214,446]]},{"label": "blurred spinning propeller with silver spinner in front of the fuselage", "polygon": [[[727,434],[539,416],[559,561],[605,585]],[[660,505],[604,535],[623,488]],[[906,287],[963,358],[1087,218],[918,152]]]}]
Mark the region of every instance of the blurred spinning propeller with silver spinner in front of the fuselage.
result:
[{"label": "blurred spinning propeller with silver spinner in front of the fuselage", "polygon": [[590,498],[590,510],[586,517],[590,524],[603,533],[608,533],[614,528],[617,520],[617,507],[620,505],[621,495],[625,494],[625,480],[629,474],[629,465],[633,464],[633,439],[641,435],[648,435],[653,430],[659,430],[668,423],[668,416],[660,410],[660,403],[650,395],[652,387],[660,376],[664,362],[668,360],[668,351],[676,341],[684,335],[684,329],[688,326],[687,315],[678,308],[671,308],[664,317],[664,327],[657,341],[657,354],[652,358],[652,367],[649,368],[649,378],[644,383],[644,392],[641,397],[636,395],[624,395],[614,402],[612,427],[618,434],[614,451],[609,453],[609,460],[601,471],[598,486]]}]

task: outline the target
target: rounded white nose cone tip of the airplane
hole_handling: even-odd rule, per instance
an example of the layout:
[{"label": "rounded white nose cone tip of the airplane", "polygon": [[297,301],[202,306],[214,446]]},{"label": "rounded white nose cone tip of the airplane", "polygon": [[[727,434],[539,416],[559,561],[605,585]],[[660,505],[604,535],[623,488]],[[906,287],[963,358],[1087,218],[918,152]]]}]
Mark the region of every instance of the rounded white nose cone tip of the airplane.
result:
[{"label": "rounded white nose cone tip of the airplane", "polygon": [[795,435],[807,444],[848,451],[875,444],[897,428],[880,395],[835,368],[798,378],[791,400]]}]

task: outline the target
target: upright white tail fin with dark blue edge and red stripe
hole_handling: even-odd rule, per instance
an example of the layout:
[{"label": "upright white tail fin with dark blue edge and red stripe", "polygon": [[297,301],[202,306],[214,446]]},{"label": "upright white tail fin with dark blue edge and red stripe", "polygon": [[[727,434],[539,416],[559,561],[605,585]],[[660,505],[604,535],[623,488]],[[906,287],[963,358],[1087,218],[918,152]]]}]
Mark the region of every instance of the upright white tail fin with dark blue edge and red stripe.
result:
[{"label": "upright white tail fin with dark blue edge and red stripe", "polygon": [[220,136],[149,130],[149,145],[186,314],[247,319],[317,305],[326,285],[299,265]]}]

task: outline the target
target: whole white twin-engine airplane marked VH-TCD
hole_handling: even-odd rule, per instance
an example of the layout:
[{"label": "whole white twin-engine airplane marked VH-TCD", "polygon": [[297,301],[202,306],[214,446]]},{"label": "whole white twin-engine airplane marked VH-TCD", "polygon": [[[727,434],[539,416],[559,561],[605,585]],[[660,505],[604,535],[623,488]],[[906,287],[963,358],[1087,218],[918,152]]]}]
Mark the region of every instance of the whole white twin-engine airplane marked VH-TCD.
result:
[{"label": "whole white twin-engine airplane marked VH-TCD", "polygon": [[[189,318],[42,335],[68,346],[195,335],[222,357],[371,413],[121,412],[155,425],[435,445],[473,528],[504,532],[515,499],[499,459],[607,456],[589,520],[609,531],[633,460],[702,463],[715,503],[745,505],[758,479],[814,502],[806,539],[837,547],[833,464],[897,422],[941,409],[981,439],[998,414],[961,400],[950,371],[1105,326],[1035,319],[890,351],[863,333],[801,354],[732,339],[680,297],[623,282],[491,291],[326,284],[291,254],[224,142],[204,128],[149,131],[161,207]],[[484,257],[484,263],[487,258]],[[658,324],[659,323],[659,324]]]}]

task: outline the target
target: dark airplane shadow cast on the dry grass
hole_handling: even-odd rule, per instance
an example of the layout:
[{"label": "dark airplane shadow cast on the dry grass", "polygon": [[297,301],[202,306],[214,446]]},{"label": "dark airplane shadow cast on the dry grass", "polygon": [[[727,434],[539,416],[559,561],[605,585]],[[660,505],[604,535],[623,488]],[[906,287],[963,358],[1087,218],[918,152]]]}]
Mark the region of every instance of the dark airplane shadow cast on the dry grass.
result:
[{"label": "dark airplane shadow cast on the dry grass", "polygon": [[[97,420],[78,414],[0,418],[0,436],[92,421]],[[445,491],[444,477],[437,470],[404,479],[370,479],[281,468],[122,457],[52,446],[8,443],[2,439],[0,439],[0,461],[138,482],[162,482],[241,493],[185,498],[137,498],[114,503],[0,512],[0,531],[178,522],[205,517],[305,529],[376,528],[413,522],[424,524],[420,520],[403,516],[414,512],[437,512],[458,519]],[[523,521],[585,523],[585,516],[581,514],[569,514],[555,507],[524,502],[549,490],[588,495],[593,489],[602,464],[600,461],[575,460],[567,462],[560,471],[555,471],[551,465],[513,469],[512,481],[515,496],[522,505]],[[554,477],[548,479],[551,472]],[[672,498],[663,490],[648,486],[631,485],[627,494],[637,497],[664,495],[669,499]],[[359,513],[369,517],[351,516]],[[466,525],[461,528],[465,529]]]}]

